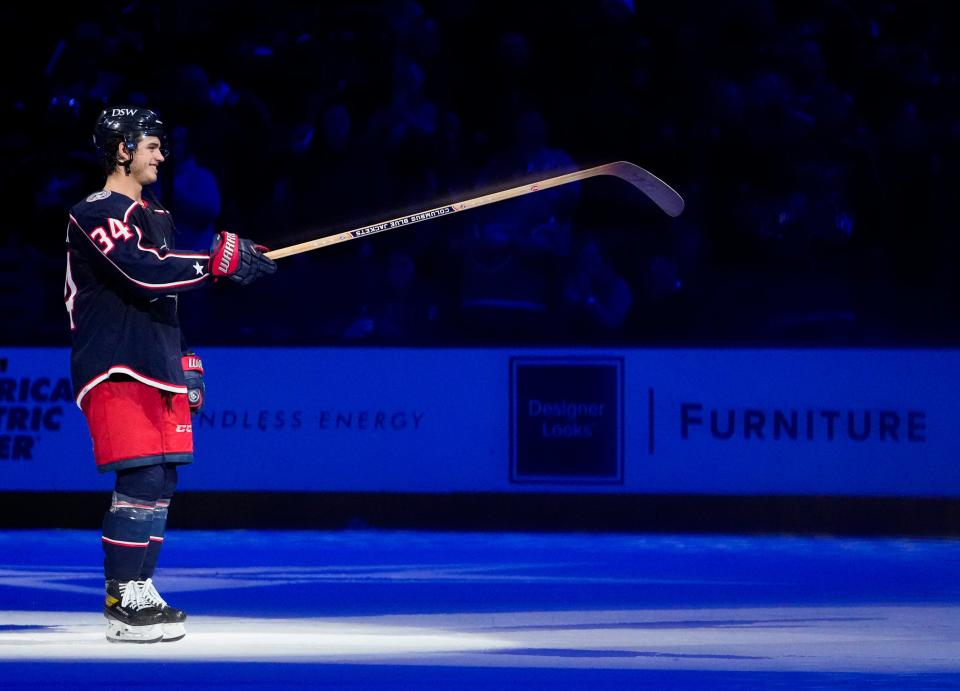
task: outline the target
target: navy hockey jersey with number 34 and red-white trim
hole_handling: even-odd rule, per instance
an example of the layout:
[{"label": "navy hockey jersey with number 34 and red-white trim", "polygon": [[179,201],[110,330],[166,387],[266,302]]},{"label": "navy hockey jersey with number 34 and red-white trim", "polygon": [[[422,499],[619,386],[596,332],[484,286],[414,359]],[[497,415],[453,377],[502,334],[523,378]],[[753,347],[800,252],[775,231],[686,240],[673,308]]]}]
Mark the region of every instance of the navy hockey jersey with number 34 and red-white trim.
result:
[{"label": "navy hockey jersey with number 34 and red-white trim", "polygon": [[70,210],[64,299],[77,405],[111,374],[186,393],[177,293],[207,285],[207,252],[174,252],[163,207],[95,192]]}]

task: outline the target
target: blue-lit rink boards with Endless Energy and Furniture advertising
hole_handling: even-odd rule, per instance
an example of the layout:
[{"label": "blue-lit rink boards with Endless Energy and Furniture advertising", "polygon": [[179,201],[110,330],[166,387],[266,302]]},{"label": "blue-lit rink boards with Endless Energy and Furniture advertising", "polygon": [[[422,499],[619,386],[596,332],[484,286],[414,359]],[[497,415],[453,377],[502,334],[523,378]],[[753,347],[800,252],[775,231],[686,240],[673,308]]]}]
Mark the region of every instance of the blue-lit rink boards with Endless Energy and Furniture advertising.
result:
[{"label": "blue-lit rink boards with Endless Energy and Furniture advertising", "polygon": [[[184,490],[960,496],[960,351],[198,350]],[[0,491],[111,482],[68,350],[0,350]]]}]

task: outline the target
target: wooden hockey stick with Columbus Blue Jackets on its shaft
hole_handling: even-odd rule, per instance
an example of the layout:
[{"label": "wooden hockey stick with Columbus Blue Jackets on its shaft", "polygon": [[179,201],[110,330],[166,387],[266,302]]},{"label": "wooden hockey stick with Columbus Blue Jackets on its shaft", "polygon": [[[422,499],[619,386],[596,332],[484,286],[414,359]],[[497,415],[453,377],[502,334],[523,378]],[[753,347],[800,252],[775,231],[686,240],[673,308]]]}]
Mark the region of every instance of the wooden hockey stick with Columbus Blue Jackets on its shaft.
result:
[{"label": "wooden hockey stick with Columbus Blue Jackets on its shaft", "polygon": [[595,168],[585,168],[584,170],[577,170],[572,173],[566,173],[565,175],[558,175],[554,178],[547,178],[546,180],[531,182],[526,185],[521,185],[520,187],[512,187],[500,192],[492,192],[480,197],[474,197],[473,199],[454,202],[453,204],[448,204],[446,206],[438,206],[434,209],[418,211],[406,216],[390,219],[389,221],[382,221],[380,223],[374,223],[373,225],[363,226],[362,228],[356,228],[354,230],[348,230],[342,233],[334,233],[333,235],[327,235],[325,237],[317,238],[316,240],[301,242],[298,245],[282,247],[278,250],[267,252],[266,256],[270,257],[271,259],[281,259],[283,257],[289,257],[293,254],[300,254],[301,252],[309,252],[310,250],[320,249],[321,247],[336,245],[337,243],[346,242],[347,240],[355,240],[357,238],[366,237],[367,235],[373,235],[374,233],[382,233],[385,230],[403,228],[414,223],[419,223],[420,221],[429,221],[432,218],[439,218],[440,216],[446,216],[457,211],[466,211],[467,209],[474,209],[485,204],[493,204],[494,202],[502,202],[505,199],[520,197],[524,194],[530,194],[531,192],[539,192],[540,190],[549,189],[551,187],[566,185],[570,182],[586,180],[587,178],[592,178],[597,175],[612,175],[620,178],[621,180],[626,180],[647,195],[651,200],[653,200],[654,204],[659,206],[670,216],[679,216],[680,212],[683,211],[683,198],[677,194],[677,192],[670,187],[670,185],[665,183],[653,173],[644,170],[636,164],[628,161],[616,161],[615,163],[606,163],[602,166],[596,166]]}]

